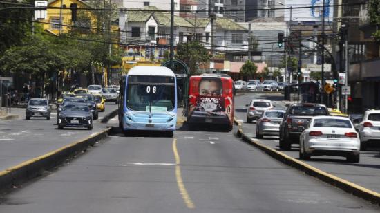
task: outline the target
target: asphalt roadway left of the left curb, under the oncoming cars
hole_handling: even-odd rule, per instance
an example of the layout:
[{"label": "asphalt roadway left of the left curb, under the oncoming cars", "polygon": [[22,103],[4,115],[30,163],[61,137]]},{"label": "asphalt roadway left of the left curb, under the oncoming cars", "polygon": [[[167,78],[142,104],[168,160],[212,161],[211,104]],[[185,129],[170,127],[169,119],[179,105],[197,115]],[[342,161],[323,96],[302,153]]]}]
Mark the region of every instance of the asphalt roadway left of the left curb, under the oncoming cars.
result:
[{"label": "asphalt roadway left of the left curb, under the oncoming cars", "polygon": [[99,121],[113,109],[117,109],[117,105],[107,103],[106,111],[99,113],[99,119],[94,121],[94,128],[91,131],[75,128],[57,129],[55,111],[52,112],[50,120],[46,118],[25,120],[25,110],[17,110],[20,113],[19,119],[0,120],[0,171],[104,129],[106,125]]}]

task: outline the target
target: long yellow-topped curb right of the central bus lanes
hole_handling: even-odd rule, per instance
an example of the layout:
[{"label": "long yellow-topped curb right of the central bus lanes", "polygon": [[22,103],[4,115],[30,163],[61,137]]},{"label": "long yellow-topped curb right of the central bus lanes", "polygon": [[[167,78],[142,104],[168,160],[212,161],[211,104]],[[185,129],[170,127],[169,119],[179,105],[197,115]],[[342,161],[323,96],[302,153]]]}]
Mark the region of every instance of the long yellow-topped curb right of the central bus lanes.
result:
[{"label": "long yellow-topped curb right of the central bus lanes", "polygon": [[[234,122],[237,123],[237,120],[234,119]],[[243,133],[243,129],[241,129],[241,126],[239,126],[238,128],[237,135],[241,137],[242,140],[244,140],[245,142],[254,145],[254,147],[257,147],[269,156],[272,156],[276,160],[279,160],[282,163],[285,163],[286,165],[289,165],[302,172],[305,172],[305,174],[307,175],[318,178],[319,180],[322,180],[325,183],[342,189],[345,192],[353,194],[354,196],[363,198],[364,200],[370,201],[371,203],[380,205],[380,194],[378,192],[374,192],[370,189],[366,189],[365,187],[361,187],[360,185],[357,185],[355,183],[351,183],[348,180],[344,180],[327,172],[323,172],[321,169],[317,169],[316,167],[312,167],[311,165],[308,165],[307,163],[304,163],[301,160],[297,160],[296,158],[287,156],[286,154],[283,154],[281,151],[277,151],[275,149],[272,149],[271,147],[267,147],[266,145],[261,144],[260,142],[250,138],[249,136],[246,136],[245,133]]]}]

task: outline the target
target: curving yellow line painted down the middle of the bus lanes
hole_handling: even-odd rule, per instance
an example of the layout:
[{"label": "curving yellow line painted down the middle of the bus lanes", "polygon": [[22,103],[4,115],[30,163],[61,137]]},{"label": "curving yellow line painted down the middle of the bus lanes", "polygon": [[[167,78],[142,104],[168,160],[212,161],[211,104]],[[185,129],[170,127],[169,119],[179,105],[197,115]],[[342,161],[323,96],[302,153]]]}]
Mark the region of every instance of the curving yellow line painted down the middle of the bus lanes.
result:
[{"label": "curving yellow line painted down the middle of the bus lanes", "polygon": [[178,189],[180,189],[180,194],[182,195],[182,198],[184,200],[184,203],[189,209],[193,209],[194,203],[191,201],[191,198],[189,196],[189,193],[187,193],[186,188],[184,187],[184,183],[182,180],[182,173],[181,173],[181,160],[180,160],[180,155],[178,154],[178,149],[177,149],[177,138],[173,139],[173,153],[174,153],[174,158],[175,158],[175,178],[177,178],[177,185]]}]

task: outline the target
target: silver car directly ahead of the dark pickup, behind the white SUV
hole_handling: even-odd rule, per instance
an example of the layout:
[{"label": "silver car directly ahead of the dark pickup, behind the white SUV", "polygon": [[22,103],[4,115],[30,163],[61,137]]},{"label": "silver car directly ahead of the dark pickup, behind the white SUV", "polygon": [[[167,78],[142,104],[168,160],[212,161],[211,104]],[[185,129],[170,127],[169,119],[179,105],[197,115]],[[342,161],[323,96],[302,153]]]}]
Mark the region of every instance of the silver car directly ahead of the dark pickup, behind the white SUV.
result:
[{"label": "silver car directly ahead of the dark pickup, behind the white SUV", "polygon": [[256,138],[260,139],[263,136],[279,136],[280,123],[285,115],[285,110],[267,110],[257,120],[256,123]]}]

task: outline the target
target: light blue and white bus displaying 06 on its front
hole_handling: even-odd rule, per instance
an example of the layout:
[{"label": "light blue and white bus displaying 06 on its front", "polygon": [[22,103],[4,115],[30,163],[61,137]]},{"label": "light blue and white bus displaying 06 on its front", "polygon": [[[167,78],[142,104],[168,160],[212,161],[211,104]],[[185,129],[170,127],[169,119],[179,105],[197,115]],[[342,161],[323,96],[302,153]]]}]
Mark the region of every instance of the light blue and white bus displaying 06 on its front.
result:
[{"label": "light blue and white bus displaying 06 on its front", "polygon": [[164,66],[135,66],[120,80],[119,126],[127,136],[134,130],[166,131],[177,123],[177,80]]}]

